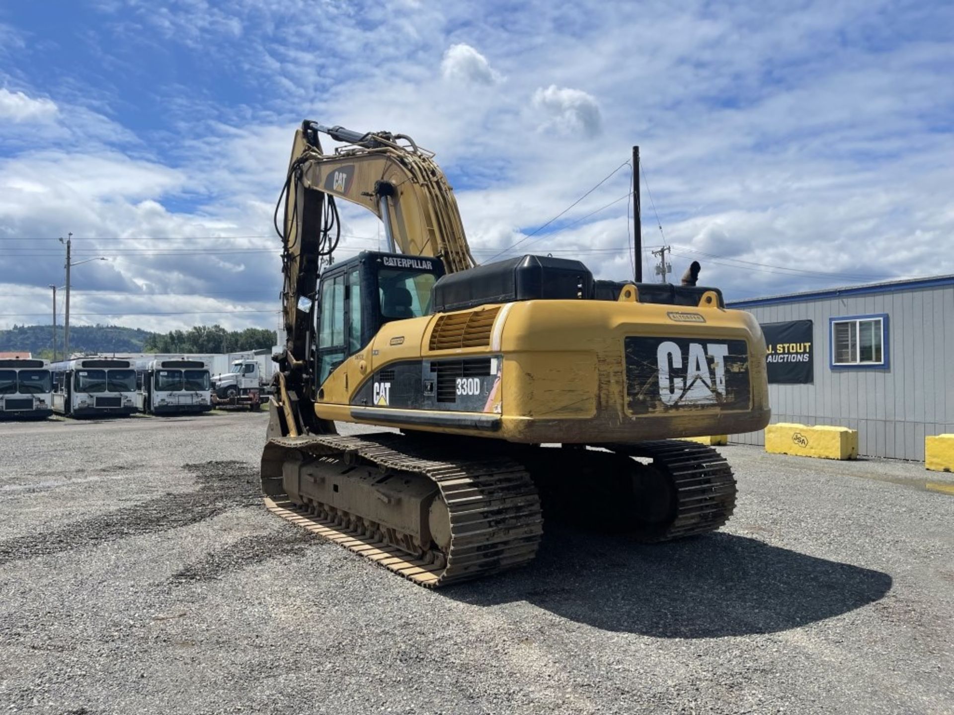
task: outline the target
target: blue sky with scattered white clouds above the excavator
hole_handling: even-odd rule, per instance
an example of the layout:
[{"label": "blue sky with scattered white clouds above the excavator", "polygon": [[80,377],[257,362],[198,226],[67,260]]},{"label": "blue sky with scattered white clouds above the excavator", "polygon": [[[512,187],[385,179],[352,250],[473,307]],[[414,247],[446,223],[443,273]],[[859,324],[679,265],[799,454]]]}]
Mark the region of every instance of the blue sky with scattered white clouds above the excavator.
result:
[{"label": "blue sky with scattered white clouds above the excavator", "polygon": [[[674,279],[695,258],[730,298],[954,273],[952,31],[949,3],[877,0],[7,3],[0,327],[49,322],[71,231],[110,258],[75,270],[78,322],[274,326],[304,118],[435,151],[478,259],[639,144]],[[632,275],[629,181],[519,250]],[[340,257],[377,245],[344,219]]]}]

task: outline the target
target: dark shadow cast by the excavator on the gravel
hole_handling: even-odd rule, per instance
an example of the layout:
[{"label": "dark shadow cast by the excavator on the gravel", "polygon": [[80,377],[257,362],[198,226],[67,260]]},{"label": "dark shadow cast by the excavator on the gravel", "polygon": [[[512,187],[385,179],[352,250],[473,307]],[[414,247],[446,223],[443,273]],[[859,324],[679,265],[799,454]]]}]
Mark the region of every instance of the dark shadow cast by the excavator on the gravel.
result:
[{"label": "dark shadow cast by the excavator on the gravel", "polygon": [[553,525],[528,567],[441,590],[526,601],[576,623],[653,638],[775,633],[879,601],[888,574],[717,532],[639,544]]}]

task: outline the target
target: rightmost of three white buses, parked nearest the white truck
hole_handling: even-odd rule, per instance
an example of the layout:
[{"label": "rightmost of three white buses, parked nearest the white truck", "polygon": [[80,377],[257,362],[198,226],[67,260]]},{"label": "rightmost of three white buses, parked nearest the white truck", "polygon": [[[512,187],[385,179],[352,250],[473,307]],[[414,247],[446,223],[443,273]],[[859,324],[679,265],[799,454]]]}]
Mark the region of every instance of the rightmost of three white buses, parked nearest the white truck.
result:
[{"label": "rightmost of three white buses, parked nearest the white truck", "polygon": [[135,406],[151,415],[212,409],[209,363],[204,359],[141,359],[135,364]]}]

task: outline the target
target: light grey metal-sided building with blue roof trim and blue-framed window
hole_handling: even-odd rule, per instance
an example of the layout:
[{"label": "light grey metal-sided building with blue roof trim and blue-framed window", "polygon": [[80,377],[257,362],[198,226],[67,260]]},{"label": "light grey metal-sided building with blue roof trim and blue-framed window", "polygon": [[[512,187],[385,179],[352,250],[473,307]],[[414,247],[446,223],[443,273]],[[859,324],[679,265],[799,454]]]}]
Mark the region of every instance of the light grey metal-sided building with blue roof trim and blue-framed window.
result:
[{"label": "light grey metal-sided building with blue roof trim and blue-framed window", "polygon": [[[773,422],[857,429],[861,455],[902,460],[924,459],[925,435],[954,433],[954,276],[737,300],[728,307],[750,311],[766,332]],[[810,326],[796,327],[812,337],[810,345],[770,338],[809,320]],[[811,381],[773,382],[773,359],[805,360]],[[731,439],[762,444],[763,433]]]}]

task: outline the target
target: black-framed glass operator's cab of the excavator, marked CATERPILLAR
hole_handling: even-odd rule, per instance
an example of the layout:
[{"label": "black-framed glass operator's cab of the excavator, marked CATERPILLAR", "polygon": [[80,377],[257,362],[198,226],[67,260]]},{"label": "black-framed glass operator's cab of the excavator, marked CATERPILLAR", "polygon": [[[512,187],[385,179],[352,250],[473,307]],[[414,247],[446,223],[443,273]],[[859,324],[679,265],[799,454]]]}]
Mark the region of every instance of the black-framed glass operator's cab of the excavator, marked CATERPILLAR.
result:
[{"label": "black-framed glass operator's cab of the excavator, marked CATERPILLAR", "polygon": [[363,251],[325,270],[316,310],[315,389],[384,323],[428,315],[431,290],[441,276],[440,258],[377,251]]}]

